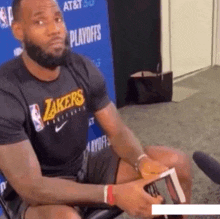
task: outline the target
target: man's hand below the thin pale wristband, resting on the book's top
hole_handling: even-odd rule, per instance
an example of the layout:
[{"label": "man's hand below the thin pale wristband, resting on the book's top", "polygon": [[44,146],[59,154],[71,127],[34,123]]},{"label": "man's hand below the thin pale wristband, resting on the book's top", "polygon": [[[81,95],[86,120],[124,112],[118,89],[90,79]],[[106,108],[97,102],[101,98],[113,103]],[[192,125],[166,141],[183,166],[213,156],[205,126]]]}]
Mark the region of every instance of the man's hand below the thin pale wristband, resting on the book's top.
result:
[{"label": "man's hand below the thin pale wristband, resting on the book's top", "polygon": [[168,167],[149,157],[143,157],[139,163],[139,171],[144,179],[148,179],[152,174],[163,173],[166,170],[168,170]]}]

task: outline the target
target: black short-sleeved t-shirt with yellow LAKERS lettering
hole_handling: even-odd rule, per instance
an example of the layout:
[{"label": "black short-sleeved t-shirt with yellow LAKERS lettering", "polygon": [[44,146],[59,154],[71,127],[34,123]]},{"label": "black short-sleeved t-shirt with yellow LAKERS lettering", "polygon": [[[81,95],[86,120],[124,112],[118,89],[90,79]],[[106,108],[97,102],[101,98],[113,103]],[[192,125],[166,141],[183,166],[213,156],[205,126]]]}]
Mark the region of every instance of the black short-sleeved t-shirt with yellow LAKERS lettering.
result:
[{"label": "black short-sleeved t-shirt with yellow LAKERS lettering", "polygon": [[77,54],[68,60],[51,82],[31,75],[20,56],[0,68],[0,145],[29,139],[43,175],[78,172],[89,112],[110,102],[93,63]]}]

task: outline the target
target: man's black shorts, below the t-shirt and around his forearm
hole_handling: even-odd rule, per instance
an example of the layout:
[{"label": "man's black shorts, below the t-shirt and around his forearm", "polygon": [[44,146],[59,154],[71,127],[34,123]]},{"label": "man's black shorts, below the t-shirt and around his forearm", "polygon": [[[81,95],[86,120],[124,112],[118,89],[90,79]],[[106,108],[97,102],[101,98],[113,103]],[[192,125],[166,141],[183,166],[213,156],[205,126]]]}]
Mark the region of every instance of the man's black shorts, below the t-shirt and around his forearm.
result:
[{"label": "man's black shorts, below the t-shirt and around his forearm", "polygon": [[[77,177],[67,177],[67,179],[87,184],[115,184],[119,160],[119,157],[109,146],[101,148],[100,150],[97,148],[96,151],[91,151],[87,148],[84,151],[83,165]],[[27,203],[16,195],[7,198],[5,202],[8,212],[13,219],[24,219],[24,214],[28,208]],[[92,208],[80,207],[80,209],[82,216],[84,216],[92,209],[106,207],[106,205],[97,205]]]}]

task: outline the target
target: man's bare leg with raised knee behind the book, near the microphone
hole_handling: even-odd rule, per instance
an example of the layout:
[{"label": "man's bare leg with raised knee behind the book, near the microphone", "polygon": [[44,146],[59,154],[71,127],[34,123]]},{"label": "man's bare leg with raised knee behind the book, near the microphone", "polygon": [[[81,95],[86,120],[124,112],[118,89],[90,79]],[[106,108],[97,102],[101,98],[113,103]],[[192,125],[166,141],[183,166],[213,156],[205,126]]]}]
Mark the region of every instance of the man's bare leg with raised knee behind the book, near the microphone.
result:
[{"label": "man's bare leg with raised knee behind the book, near the microphone", "polygon": [[[164,146],[148,146],[144,148],[145,153],[167,167],[175,167],[180,184],[186,196],[186,203],[191,200],[192,172],[191,162],[186,154]],[[140,175],[125,161],[121,160],[117,173],[116,183],[125,183],[140,178]]]}]

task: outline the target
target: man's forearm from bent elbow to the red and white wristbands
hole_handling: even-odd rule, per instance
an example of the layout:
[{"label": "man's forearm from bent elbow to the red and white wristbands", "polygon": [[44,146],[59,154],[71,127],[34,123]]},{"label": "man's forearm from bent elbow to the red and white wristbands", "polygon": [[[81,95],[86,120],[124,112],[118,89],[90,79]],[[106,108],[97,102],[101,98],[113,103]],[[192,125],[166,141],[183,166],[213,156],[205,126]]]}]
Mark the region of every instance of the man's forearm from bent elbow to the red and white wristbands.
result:
[{"label": "man's forearm from bent elbow to the red and white wristbands", "polygon": [[[27,188],[28,187],[28,188]],[[19,189],[19,195],[31,205],[95,204],[104,202],[103,185],[80,184],[72,180],[42,177]]]}]

